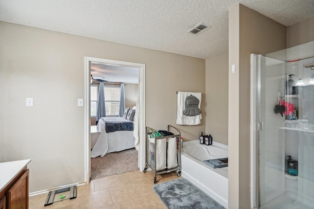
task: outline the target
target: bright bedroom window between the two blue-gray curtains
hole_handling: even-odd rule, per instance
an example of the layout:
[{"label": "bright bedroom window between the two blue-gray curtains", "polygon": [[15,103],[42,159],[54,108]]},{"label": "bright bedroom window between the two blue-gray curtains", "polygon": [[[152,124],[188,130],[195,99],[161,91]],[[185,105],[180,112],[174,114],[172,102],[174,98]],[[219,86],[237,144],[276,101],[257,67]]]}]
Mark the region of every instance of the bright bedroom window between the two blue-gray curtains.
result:
[{"label": "bright bedroom window between the two blue-gray curtains", "polygon": [[119,116],[120,87],[105,86],[106,116]]}]

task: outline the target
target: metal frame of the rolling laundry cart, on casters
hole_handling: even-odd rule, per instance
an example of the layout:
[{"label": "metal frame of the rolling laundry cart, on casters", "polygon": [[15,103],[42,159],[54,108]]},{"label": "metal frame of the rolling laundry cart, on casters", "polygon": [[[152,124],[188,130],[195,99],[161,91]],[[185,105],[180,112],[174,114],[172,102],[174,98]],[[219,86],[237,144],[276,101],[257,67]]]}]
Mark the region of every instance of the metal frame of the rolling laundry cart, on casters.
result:
[{"label": "metal frame of the rolling laundry cart, on casters", "polygon": [[[165,138],[177,138],[179,137],[179,147],[177,149],[177,163],[178,165],[174,168],[166,168],[164,170],[159,170],[157,171],[156,170],[156,165],[157,165],[157,162],[156,162],[156,159],[157,159],[157,153],[155,152],[155,155],[154,155],[154,167],[152,167],[150,164],[149,164],[149,138],[150,138],[150,135],[153,134],[153,133],[156,133],[157,130],[153,129],[153,128],[150,128],[148,126],[146,126],[146,167],[144,168],[144,173],[146,173],[146,170],[147,168],[151,168],[154,173],[155,173],[155,176],[154,176],[154,183],[156,184],[157,183],[157,175],[158,174],[164,174],[164,173],[170,173],[170,172],[173,172],[173,171],[178,171],[177,172],[177,176],[181,176],[181,133],[180,131],[175,128],[174,126],[172,125],[168,125],[168,132],[170,132],[170,129],[174,129],[176,130],[176,133],[175,135],[170,135],[170,136],[162,136],[162,137],[155,137],[155,151],[157,149],[157,140],[158,139],[165,139]],[[179,155],[178,155],[179,154]]]}]

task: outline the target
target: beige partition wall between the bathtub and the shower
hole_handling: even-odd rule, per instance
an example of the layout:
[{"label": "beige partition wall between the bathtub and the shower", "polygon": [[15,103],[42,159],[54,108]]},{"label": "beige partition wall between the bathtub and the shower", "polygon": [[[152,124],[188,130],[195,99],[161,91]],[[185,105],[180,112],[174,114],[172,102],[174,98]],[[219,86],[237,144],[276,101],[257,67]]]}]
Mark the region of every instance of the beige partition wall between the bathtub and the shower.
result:
[{"label": "beige partition wall between the bathtub and the shower", "polygon": [[229,208],[250,208],[250,54],[286,48],[286,26],[243,5],[229,11]]}]

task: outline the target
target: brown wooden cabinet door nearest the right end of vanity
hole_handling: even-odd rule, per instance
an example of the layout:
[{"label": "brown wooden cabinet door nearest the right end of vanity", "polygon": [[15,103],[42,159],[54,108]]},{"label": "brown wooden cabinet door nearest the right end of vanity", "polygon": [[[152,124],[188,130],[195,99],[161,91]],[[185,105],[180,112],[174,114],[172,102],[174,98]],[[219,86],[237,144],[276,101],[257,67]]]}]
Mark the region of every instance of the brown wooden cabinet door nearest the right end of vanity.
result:
[{"label": "brown wooden cabinet door nearest the right end of vanity", "polygon": [[28,169],[6,192],[7,209],[28,209]]}]

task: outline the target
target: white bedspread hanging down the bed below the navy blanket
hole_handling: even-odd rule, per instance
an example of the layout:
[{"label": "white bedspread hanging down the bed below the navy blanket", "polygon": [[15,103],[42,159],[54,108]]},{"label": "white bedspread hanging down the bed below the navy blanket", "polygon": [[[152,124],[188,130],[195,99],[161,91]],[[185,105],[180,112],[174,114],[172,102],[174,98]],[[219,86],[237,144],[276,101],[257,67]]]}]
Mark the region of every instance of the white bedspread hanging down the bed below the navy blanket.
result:
[{"label": "white bedspread hanging down the bed below the navy blanket", "polygon": [[110,152],[119,152],[135,147],[133,131],[115,131],[106,133],[105,122],[103,122],[103,120],[99,120],[97,125],[98,129],[102,132],[91,151],[92,158],[98,156],[104,157],[105,154]]}]

